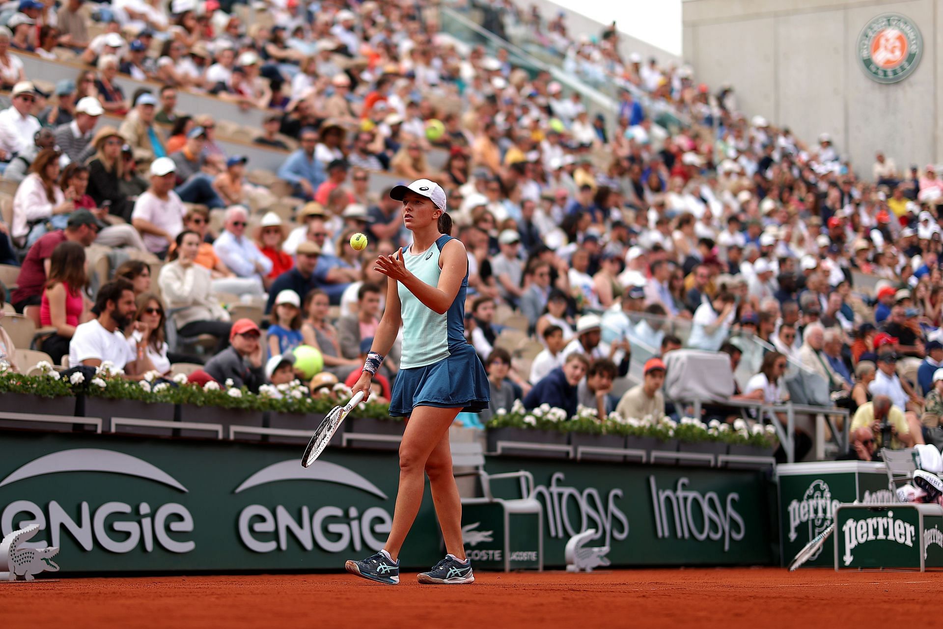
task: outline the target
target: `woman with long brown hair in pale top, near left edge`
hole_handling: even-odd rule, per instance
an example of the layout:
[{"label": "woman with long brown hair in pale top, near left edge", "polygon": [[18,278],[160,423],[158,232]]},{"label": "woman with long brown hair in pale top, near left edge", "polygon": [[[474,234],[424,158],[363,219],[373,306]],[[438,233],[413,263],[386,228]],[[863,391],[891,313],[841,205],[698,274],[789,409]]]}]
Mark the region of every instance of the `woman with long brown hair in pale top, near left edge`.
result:
[{"label": "woman with long brown hair in pale top, near left edge", "polygon": [[28,248],[52,229],[64,229],[74,210],[74,193],[58,187],[59,153],[54,148],[42,149],[29,174],[20,183],[13,197],[13,242]]}]

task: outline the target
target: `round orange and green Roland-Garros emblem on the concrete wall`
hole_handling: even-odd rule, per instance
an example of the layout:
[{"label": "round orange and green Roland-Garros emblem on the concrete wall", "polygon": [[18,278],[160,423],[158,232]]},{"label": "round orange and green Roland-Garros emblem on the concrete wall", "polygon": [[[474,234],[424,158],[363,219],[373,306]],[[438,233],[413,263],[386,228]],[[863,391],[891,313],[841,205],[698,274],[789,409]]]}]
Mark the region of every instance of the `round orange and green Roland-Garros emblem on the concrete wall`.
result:
[{"label": "round orange and green Roland-Garros emblem on the concrete wall", "polygon": [[857,56],[869,78],[897,83],[917,69],[923,56],[923,36],[910,18],[885,13],[861,30]]}]

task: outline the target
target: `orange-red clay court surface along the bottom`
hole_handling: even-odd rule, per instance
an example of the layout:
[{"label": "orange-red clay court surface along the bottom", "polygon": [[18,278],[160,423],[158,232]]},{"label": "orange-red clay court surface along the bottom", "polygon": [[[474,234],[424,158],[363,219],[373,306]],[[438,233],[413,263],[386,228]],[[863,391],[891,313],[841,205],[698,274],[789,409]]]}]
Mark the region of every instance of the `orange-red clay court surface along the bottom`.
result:
[{"label": "orange-red clay court surface along the bottom", "polygon": [[[0,583],[5,627],[893,626],[943,573],[690,569],[480,572],[471,586],[381,586],[344,574]],[[41,577],[40,577],[41,579]],[[926,594],[927,596],[923,596]],[[417,622],[422,622],[418,625]]]}]

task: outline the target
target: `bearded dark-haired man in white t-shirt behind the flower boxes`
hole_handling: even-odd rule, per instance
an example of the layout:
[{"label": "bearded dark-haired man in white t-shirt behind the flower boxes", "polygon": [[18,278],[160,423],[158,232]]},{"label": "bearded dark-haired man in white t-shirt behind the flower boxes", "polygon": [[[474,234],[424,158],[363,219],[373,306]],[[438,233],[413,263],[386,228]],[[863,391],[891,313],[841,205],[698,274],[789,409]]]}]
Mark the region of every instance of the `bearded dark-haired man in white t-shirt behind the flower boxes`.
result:
[{"label": "bearded dark-haired man in white t-shirt behind the flower boxes", "polygon": [[69,364],[99,367],[108,361],[116,369],[123,369],[126,375],[136,374],[137,361],[143,357],[144,348],[140,348],[141,356],[135,356],[122,332],[122,328],[134,323],[137,313],[134,287],[124,278],[108,282],[98,290],[93,312],[98,315],[97,319],[75,328],[69,343]]}]

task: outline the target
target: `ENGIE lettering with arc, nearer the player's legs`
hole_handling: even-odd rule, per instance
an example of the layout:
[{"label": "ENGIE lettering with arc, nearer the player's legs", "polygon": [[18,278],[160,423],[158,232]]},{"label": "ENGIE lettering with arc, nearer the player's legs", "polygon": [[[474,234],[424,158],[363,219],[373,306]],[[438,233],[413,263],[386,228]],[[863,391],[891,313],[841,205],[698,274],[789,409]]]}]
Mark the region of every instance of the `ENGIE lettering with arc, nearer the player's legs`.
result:
[{"label": "ENGIE lettering with arc, nearer the player's legs", "polygon": [[[345,467],[315,461],[308,468],[290,459],[273,463],[247,478],[233,493],[240,493],[268,483],[286,480],[320,481],[345,485],[387,500],[387,494],[360,474]],[[383,540],[389,534],[393,519],[389,511],[372,506],[360,513],[356,506],[322,506],[311,513],[302,506],[296,515],[283,505],[273,508],[264,505],[248,505],[239,515],[239,537],[241,542],[256,553],[271,553],[288,550],[289,536],[295,538],[306,551],[318,548],[328,553],[341,553],[348,547],[359,552],[364,545],[373,551],[383,548]]]}]

